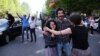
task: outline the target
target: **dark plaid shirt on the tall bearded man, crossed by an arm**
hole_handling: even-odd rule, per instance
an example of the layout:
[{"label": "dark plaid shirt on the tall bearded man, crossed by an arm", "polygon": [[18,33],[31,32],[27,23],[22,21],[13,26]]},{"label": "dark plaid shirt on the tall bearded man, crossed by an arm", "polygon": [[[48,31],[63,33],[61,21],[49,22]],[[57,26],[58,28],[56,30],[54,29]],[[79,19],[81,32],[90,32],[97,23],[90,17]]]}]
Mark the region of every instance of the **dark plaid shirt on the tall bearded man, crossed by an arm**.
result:
[{"label": "dark plaid shirt on the tall bearded man, crossed by an arm", "polygon": [[[56,19],[56,22],[58,24],[58,29],[59,31],[60,30],[64,30],[66,28],[68,28],[70,26],[70,22],[67,20],[67,19],[63,19],[62,21],[59,21],[58,19]],[[69,42],[69,35],[59,35],[58,36],[58,43],[61,43],[61,42]]]}]

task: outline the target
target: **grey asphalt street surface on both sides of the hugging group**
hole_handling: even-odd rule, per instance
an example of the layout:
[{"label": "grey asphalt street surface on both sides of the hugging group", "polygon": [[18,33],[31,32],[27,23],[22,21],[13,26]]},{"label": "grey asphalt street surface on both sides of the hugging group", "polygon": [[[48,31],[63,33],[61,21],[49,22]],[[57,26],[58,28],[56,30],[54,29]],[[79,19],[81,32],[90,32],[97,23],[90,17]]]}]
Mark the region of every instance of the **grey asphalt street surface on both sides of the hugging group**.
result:
[{"label": "grey asphalt street surface on both sides of the hugging group", "polygon": [[[45,56],[44,39],[41,29],[36,30],[37,42],[21,43],[21,36],[0,47],[0,56]],[[100,33],[89,36],[92,56],[100,56]]]}]

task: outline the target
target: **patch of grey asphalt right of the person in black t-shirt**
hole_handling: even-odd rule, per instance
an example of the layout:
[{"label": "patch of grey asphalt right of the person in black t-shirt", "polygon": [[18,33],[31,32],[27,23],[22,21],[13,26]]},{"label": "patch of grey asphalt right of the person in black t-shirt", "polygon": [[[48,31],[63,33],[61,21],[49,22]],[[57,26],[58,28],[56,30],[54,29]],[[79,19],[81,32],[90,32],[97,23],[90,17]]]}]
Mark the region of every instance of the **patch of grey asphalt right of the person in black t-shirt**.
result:
[{"label": "patch of grey asphalt right of the person in black t-shirt", "polygon": [[95,32],[93,36],[89,35],[89,43],[92,56],[100,56],[100,33]]}]

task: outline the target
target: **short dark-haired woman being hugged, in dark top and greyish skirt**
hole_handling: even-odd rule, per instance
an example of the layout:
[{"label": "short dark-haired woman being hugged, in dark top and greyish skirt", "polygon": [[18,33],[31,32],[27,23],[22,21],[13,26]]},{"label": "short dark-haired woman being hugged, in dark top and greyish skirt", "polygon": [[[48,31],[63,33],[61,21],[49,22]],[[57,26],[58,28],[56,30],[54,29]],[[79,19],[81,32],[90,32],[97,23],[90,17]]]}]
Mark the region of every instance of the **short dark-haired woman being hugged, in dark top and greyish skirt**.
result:
[{"label": "short dark-haired woman being hugged, in dark top and greyish skirt", "polygon": [[[52,30],[57,30],[57,23],[54,20],[49,20],[46,23],[46,26]],[[56,48],[56,37],[54,34],[48,32],[48,35],[45,35],[45,53],[46,56],[57,56]]]}]

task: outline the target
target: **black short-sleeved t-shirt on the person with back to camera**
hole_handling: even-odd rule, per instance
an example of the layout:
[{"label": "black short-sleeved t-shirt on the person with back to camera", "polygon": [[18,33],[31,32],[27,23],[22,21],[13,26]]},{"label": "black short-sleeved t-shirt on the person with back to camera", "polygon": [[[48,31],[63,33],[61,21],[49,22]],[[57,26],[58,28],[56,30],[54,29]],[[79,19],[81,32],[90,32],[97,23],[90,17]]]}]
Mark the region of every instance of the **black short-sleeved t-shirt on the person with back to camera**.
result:
[{"label": "black short-sleeved t-shirt on the person with back to camera", "polygon": [[85,26],[71,26],[73,48],[86,50],[89,47],[88,29]]}]

